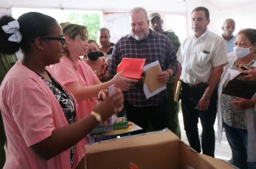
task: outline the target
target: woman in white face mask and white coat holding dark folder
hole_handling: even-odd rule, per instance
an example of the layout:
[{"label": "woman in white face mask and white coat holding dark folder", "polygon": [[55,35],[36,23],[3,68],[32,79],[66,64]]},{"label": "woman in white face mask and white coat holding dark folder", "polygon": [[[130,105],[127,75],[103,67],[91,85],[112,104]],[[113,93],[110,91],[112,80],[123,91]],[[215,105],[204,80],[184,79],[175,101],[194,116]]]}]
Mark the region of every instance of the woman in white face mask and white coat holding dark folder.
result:
[{"label": "woman in white face mask and white coat holding dark folder", "polygon": [[256,29],[242,29],[236,37],[234,52],[229,53],[219,84],[218,138],[221,140],[222,124],[232,150],[233,165],[241,169],[256,167],[255,113],[256,99],[242,99],[223,94],[228,82],[228,69],[241,70],[241,66],[256,65]]}]

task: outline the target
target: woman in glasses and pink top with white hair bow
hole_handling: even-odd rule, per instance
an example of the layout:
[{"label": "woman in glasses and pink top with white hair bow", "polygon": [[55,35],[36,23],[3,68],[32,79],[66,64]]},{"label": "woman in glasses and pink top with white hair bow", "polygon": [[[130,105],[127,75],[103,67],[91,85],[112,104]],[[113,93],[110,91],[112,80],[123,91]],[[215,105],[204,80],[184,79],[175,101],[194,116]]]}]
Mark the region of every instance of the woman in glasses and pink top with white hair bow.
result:
[{"label": "woman in glasses and pink top with white hair bow", "polygon": [[60,25],[45,14],[0,18],[0,52],[23,52],[0,87],[8,142],[4,169],[84,168],[83,138],[99,121],[122,109],[122,91],[115,89],[91,115],[78,115],[72,94],[48,67],[60,62],[64,40]]}]

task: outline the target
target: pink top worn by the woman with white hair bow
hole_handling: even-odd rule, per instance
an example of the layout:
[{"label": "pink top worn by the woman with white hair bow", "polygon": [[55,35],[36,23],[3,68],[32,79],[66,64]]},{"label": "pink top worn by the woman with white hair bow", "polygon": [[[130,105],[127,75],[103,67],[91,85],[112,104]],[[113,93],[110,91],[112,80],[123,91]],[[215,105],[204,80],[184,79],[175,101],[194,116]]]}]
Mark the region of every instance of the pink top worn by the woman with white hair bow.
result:
[{"label": "pink top worn by the woman with white hair bow", "polygon": [[[58,81],[49,67],[46,67],[46,70]],[[11,68],[2,81],[0,108],[8,143],[4,169],[71,168],[70,149],[48,161],[39,158],[30,149],[30,146],[50,137],[55,129],[69,123],[60,103],[45,81],[23,66],[20,61]],[[74,168],[84,157],[84,141],[83,139],[76,144]]]}]

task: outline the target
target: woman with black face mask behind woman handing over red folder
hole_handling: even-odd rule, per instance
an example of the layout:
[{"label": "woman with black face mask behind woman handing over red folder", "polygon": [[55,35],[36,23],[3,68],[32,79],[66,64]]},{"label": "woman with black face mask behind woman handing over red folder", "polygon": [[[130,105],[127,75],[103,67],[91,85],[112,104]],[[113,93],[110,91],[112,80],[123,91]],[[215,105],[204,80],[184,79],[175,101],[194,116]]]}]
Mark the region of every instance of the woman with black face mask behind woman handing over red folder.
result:
[{"label": "woman with black face mask behind woman handing over red folder", "polygon": [[108,63],[99,51],[99,46],[95,40],[88,40],[88,52],[86,63],[98,76],[101,82],[106,82],[108,78]]}]

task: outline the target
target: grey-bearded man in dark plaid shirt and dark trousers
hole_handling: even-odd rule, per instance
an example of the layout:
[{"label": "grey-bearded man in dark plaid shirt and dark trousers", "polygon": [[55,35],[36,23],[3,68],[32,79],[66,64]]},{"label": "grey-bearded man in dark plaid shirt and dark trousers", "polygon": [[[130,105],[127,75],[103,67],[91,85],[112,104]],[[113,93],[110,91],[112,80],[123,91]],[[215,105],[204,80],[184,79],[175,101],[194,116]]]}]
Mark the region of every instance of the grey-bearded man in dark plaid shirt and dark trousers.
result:
[{"label": "grey-bearded man in dark plaid shirt and dark trousers", "polygon": [[[116,74],[116,67],[122,58],[146,58],[145,64],[159,61],[163,72],[158,76],[158,81],[166,84],[176,73],[178,64],[171,41],[165,35],[149,29],[148,14],[144,8],[137,7],[130,11],[130,23],[131,33],[120,38],[114,46],[108,69],[110,78]],[[134,134],[147,132],[148,121],[154,131],[167,127],[169,116],[166,90],[146,99],[142,83],[130,87],[124,94],[128,120],[143,128]]]}]

